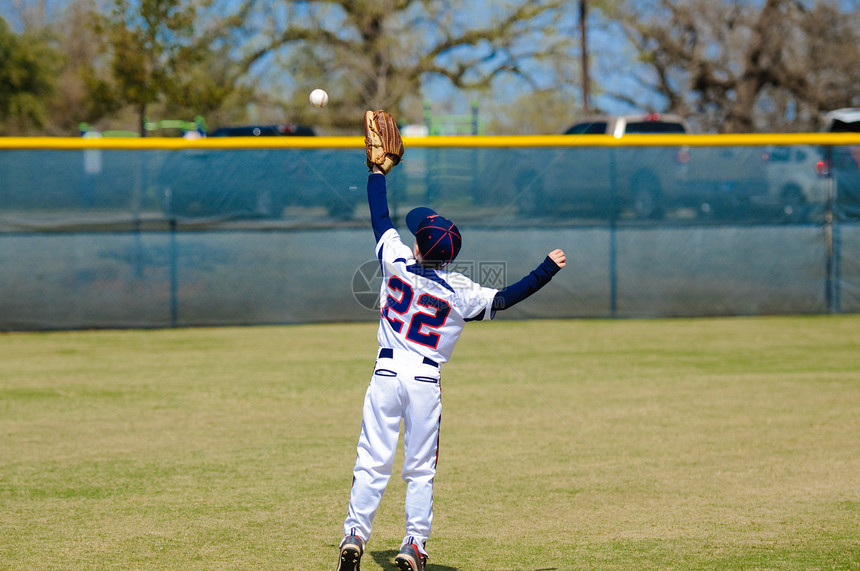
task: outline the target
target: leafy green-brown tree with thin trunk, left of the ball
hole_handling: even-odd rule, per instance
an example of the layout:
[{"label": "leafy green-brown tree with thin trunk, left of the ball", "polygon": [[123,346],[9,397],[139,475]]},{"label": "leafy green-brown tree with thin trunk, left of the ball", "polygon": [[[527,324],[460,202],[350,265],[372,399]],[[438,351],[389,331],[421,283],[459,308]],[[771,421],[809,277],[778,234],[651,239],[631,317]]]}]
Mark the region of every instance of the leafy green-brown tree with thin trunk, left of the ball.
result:
[{"label": "leafy green-brown tree with thin trunk, left of the ball", "polygon": [[112,0],[96,18],[107,65],[89,80],[100,107],[131,106],[146,134],[149,111],[193,117],[242,107],[252,86],[239,83],[242,69],[224,35],[234,18],[206,12],[211,0]]}]

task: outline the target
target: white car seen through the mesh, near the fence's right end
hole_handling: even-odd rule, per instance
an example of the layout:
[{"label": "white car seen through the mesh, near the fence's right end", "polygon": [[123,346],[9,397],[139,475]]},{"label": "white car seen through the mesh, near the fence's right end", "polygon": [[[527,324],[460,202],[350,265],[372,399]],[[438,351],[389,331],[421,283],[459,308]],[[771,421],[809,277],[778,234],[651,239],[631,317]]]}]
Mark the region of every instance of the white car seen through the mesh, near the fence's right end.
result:
[{"label": "white car seen through the mesh, near the fence's right end", "polygon": [[827,167],[821,149],[809,145],[770,145],[762,152],[767,192],[756,206],[776,208],[786,221],[804,220],[827,202]]}]

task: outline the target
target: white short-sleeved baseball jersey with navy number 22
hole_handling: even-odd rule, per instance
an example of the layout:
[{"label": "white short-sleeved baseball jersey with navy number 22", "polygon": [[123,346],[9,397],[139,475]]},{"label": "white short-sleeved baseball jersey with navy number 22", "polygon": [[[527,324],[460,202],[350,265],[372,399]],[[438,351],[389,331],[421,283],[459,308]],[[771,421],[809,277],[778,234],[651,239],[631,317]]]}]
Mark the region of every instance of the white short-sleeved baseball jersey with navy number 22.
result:
[{"label": "white short-sleeved baseball jersey with navy number 22", "polygon": [[380,347],[445,363],[467,320],[492,319],[498,290],[458,272],[421,266],[394,228],[380,237],[376,256],[382,267]]}]

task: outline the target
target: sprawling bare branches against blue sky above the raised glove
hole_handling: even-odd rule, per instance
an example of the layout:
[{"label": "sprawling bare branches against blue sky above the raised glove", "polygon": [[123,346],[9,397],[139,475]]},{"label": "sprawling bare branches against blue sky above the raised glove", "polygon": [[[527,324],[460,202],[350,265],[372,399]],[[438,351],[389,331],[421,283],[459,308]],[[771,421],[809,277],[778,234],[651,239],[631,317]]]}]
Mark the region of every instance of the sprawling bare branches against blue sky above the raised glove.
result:
[{"label": "sprawling bare branches against blue sky above the raised glove", "polygon": [[[313,79],[314,67],[328,71],[347,82],[339,101],[345,113],[358,116],[358,108],[400,112],[404,98],[420,96],[429,78],[444,78],[461,90],[485,89],[508,74],[537,85],[526,62],[569,57],[569,50],[559,46],[569,46],[572,38],[542,28],[558,18],[563,0],[493,5],[492,14],[480,22],[464,17],[459,5],[448,0],[312,0],[303,3],[301,18],[281,22],[264,41],[249,43],[254,47],[243,55],[242,66],[251,70],[273,54],[285,54],[296,70],[310,74],[293,75],[299,82],[330,81],[321,73]],[[266,7],[282,15],[290,3]],[[263,5],[247,0],[243,9],[253,18]],[[315,60],[313,65],[307,58]],[[337,65],[331,66],[333,61]]]}]

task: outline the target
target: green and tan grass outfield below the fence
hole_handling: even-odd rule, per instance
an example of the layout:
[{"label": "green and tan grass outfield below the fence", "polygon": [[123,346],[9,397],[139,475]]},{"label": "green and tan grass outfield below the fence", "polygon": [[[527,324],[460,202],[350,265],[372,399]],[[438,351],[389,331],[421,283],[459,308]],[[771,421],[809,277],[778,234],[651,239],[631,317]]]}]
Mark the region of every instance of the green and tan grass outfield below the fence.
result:
[{"label": "green and tan grass outfield below the fence", "polygon": [[[375,331],[0,335],[0,569],[333,570]],[[429,571],[860,569],[860,316],[473,324],[443,407]]]}]

